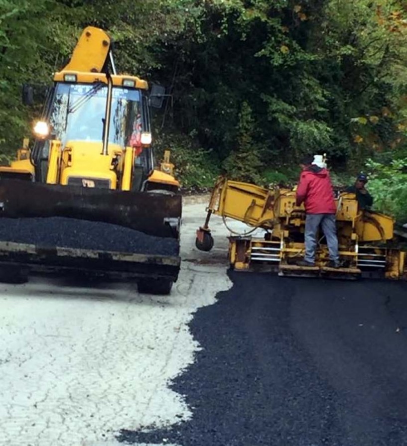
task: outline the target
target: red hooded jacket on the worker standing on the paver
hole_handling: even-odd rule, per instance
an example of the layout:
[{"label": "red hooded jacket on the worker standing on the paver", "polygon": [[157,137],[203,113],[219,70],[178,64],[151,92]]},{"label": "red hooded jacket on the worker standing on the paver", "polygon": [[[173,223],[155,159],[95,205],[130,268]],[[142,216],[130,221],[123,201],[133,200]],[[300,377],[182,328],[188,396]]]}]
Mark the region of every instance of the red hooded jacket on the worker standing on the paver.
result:
[{"label": "red hooded jacket on the worker standing on the paver", "polygon": [[304,202],[307,214],[336,214],[336,205],[329,172],[312,164],[301,172],[296,205]]}]

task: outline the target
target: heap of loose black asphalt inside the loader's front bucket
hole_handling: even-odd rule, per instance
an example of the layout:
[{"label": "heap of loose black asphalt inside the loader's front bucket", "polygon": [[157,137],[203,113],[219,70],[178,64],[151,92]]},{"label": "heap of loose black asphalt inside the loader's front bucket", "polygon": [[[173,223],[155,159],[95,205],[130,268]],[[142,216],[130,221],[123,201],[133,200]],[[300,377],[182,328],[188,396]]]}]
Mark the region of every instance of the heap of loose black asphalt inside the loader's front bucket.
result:
[{"label": "heap of loose black asphalt inside the loader's front bucket", "polygon": [[0,241],[135,254],[178,255],[178,240],[128,227],[62,217],[0,219]]}]

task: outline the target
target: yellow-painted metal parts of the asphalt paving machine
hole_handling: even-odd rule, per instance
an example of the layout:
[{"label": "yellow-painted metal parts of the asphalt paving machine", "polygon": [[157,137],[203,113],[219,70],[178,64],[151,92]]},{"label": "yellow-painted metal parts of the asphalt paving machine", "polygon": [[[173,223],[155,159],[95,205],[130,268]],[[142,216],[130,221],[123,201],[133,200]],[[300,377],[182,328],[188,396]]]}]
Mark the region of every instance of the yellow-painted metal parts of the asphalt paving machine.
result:
[{"label": "yellow-painted metal parts of the asphalt paving machine", "polygon": [[[386,277],[400,278],[403,274],[407,275],[405,252],[371,245],[393,238],[393,218],[376,212],[360,211],[355,194],[340,194],[336,199],[336,206],[339,253],[342,259],[349,262],[350,273],[358,270],[359,259],[364,258],[369,261],[383,258],[386,259]],[[230,237],[229,259],[236,269],[250,267],[255,252],[259,252],[253,250],[253,247],[263,249],[261,252],[267,252],[271,246],[279,246],[279,251],[273,252],[278,252],[280,264],[286,264],[288,260],[295,260],[304,255],[305,244],[300,240],[303,240],[306,216],[303,206],[295,205],[295,190],[267,189],[220,178],[213,189],[208,210],[221,217],[272,231],[271,241],[257,237],[247,237],[245,240]],[[318,239],[322,235],[320,231]],[[245,259],[242,254],[239,255],[239,252],[243,252],[242,249],[246,252]],[[319,244],[316,265],[323,268],[328,260],[327,246]],[[270,263],[278,264],[271,261]]]}]

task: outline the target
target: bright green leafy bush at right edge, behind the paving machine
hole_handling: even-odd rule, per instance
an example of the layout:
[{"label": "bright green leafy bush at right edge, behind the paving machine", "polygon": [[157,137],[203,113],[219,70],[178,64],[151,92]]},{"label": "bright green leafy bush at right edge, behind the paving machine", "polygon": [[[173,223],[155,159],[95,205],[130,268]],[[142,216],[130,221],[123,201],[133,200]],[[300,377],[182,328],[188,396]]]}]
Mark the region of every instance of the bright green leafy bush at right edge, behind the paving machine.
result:
[{"label": "bright green leafy bush at right edge, behind the paving machine", "polygon": [[374,197],[374,209],[394,215],[407,222],[407,158],[390,163],[368,160],[369,192]]}]

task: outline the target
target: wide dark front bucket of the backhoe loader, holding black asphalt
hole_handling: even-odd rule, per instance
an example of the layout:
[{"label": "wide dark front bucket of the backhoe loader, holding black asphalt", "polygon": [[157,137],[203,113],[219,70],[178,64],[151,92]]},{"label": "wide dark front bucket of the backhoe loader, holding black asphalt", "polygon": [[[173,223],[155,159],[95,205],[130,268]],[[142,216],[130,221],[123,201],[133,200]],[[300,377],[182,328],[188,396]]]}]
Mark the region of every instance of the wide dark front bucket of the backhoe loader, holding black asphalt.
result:
[{"label": "wide dark front bucket of the backhoe loader, holding black asphalt", "polygon": [[84,274],[168,294],[178,278],[181,197],[0,180],[0,281]]}]

